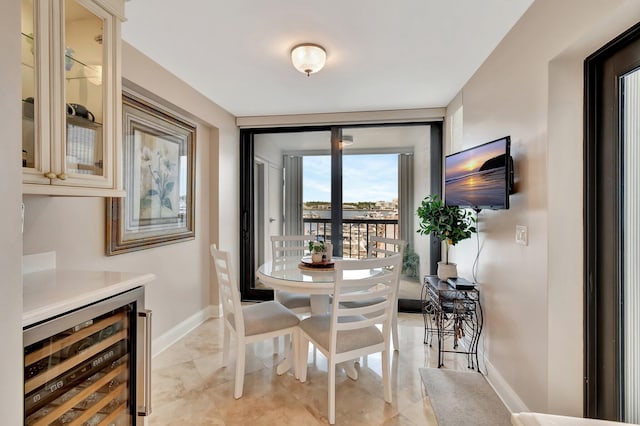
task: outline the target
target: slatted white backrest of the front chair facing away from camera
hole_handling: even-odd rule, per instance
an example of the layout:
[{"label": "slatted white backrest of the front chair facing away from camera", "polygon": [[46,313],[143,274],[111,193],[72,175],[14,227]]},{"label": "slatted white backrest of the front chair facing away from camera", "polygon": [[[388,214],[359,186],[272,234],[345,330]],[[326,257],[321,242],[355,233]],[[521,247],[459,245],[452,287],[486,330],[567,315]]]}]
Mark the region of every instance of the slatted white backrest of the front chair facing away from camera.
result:
[{"label": "slatted white backrest of the front chair facing away from camera", "polygon": [[[381,258],[336,261],[330,347],[336,348],[338,332],[362,329],[375,324],[382,324],[385,341],[389,341],[390,321],[401,268],[400,254]],[[364,274],[357,272],[371,270],[379,270],[379,273],[372,275],[369,272]],[[362,278],[363,276],[365,278]],[[375,302],[369,303],[372,300]],[[364,301],[368,304],[359,303]],[[341,320],[341,318],[344,319]]]}]

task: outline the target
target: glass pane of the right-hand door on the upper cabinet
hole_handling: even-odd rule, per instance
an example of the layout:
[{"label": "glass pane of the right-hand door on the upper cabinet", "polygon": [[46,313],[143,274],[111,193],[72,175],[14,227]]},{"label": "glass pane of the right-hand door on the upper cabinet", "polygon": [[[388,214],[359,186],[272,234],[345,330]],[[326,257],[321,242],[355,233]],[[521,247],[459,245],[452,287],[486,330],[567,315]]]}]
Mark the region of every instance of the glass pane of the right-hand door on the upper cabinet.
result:
[{"label": "glass pane of the right-hand door on the upper cabinet", "polygon": [[104,31],[108,28],[107,17],[100,14],[91,3],[65,0],[64,40],[60,52],[66,116],[65,143],[59,157],[62,170],[98,177],[105,175],[103,70],[108,44]]}]

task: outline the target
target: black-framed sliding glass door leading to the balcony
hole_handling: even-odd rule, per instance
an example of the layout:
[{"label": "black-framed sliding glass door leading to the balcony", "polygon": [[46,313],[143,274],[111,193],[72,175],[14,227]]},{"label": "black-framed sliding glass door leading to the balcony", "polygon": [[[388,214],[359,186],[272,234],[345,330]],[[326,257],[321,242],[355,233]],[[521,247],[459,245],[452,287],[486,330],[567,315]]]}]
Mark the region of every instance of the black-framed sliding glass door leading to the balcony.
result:
[{"label": "black-framed sliding glass door leading to the balcony", "polygon": [[416,203],[440,191],[440,129],[434,123],[242,130],[243,299],[272,298],[255,277],[271,260],[271,235],[331,241],[334,255],[344,258],[365,257],[371,236],[381,236],[407,241],[401,305],[419,309],[419,277],[431,273],[438,256],[429,238],[416,234],[413,218]]}]

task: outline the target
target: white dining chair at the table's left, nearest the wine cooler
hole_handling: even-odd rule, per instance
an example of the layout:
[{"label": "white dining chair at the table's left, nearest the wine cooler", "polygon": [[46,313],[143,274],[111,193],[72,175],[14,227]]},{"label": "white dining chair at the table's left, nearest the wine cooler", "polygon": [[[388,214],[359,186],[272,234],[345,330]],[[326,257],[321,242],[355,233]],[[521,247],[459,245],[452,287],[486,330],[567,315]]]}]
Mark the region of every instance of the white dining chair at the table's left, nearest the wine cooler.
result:
[{"label": "white dining chair at the table's left, nearest the wine cooler", "polygon": [[[229,253],[218,250],[211,245],[211,256],[218,277],[218,287],[222,302],[222,316],[224,321],[224,348],[222,362],[227,366],[231,335],[236,341],[236,371],[235,390],[233,397],[242,396],[244,387],[245,349],[249,343],[273,339],[279,336],[293,336],[294,359],[296,358],[296,334],[300,319],[296,314],[278,302],[269,301],[254,305],[241,306],[240,290],[231,270]],[[288,347],[286,347],[288,354]],[[296,374],[297,375],[297,374]]]}]

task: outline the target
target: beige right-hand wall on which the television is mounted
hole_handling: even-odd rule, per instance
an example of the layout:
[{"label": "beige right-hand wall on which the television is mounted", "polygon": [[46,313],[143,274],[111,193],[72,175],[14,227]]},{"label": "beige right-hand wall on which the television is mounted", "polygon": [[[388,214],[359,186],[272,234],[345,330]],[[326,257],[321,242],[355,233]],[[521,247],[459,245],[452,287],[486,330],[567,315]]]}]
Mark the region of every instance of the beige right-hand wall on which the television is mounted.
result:
[{"label": "beige right-hand wall on which the television is mounted", "polygon": [[[518,193],[480,214],[478,275],[488,378],[512,410],[582,415],[582,63],[639,19],[637,1],[537,0],[456,98],[451,151],[512,137]],[[452,252],[470,276],[475,243]]]}]

